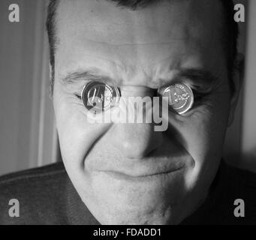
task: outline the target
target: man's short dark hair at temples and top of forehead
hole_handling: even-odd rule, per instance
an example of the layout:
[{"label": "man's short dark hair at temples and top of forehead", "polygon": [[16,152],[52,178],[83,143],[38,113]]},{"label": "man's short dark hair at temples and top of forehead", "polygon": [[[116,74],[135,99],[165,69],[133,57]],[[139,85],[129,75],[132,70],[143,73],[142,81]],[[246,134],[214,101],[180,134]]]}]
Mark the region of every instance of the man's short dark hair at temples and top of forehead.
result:
[{"label": "man's short dark hair at temples and top of forehead", "polygon": [[[158,0],[107,0],[114,1],[119,7],[129,7],[132,10],[146,7],[156,3]],[[223,28],[223,43],[224,51],[227,58],[227,72],[230,80],[231,92],[233,86],[233,71],[236,67],[237,41],[239,35],[238,23],[234,21],[235,14],[233,0],[219,0],[223,5],[224,28]],[[52,69],[51,75],[51,93],[53,93],[54,85],[54,67],[55,67],[55,50],[56,50],[56,9],[59,0],[50,0],[47,9],[47,34],[50,44],[50,65]]]}]

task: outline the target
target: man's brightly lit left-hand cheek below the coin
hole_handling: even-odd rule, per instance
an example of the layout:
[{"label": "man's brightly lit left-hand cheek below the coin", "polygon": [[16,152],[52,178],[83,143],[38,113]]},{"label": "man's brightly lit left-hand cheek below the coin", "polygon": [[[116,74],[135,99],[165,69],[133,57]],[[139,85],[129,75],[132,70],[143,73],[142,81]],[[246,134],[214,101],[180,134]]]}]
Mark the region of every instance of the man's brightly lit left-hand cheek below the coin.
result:
[{"label": "man's brightly lit left-hand cheek below the coin", "polygon": [[74,97],[56,95],[54,109],[62,159],[71,168],[81,169],[87,152],[108,126],[90,124],[83,104]]}]

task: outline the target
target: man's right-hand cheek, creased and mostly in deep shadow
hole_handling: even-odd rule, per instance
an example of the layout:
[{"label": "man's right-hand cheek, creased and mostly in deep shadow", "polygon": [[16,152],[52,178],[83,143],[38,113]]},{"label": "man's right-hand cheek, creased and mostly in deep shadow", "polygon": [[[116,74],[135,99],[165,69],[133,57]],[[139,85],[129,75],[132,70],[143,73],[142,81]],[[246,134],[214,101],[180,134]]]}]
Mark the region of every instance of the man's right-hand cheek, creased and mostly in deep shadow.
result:
[{"label": "man's right-hand cheek, creased and mostly in deep shadow", "polygon": [[203,184],[214,177],[222,157],[228,114],[228,104],[213,101],[210,105],[198,107],[191,115],[176,119],[183,146],[195,162],[194,169],[187,176],[188,185],[197,184],[199,179]]}]

